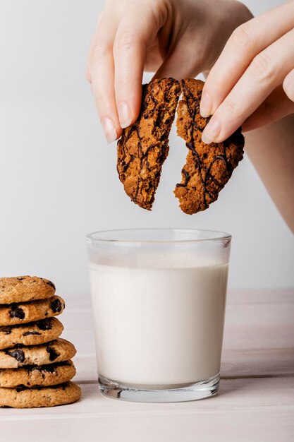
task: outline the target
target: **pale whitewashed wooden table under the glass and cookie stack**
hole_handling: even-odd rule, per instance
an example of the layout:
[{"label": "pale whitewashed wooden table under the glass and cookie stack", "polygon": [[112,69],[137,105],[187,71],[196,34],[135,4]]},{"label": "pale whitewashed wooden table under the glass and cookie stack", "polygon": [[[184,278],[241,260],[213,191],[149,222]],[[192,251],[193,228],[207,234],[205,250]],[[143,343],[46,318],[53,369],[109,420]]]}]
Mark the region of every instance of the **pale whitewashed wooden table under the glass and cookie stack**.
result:
[{"label": "pale whitewashed wooden table under the glass and cookie stack", "polygon": [[63,337],[78,349],[75,380],[82,400],[1,409],[1,441],[294,441],[294,289],[229,292],[219,395],[171,404],[104,398],[97,387],[90,299],[64,297]]}]

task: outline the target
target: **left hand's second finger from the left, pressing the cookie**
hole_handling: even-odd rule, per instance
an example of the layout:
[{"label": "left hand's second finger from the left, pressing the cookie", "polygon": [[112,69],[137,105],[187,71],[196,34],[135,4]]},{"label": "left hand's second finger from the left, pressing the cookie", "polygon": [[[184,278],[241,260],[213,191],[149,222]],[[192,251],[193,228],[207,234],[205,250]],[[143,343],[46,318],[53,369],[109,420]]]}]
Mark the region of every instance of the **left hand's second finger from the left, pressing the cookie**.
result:
[{"label": "left hand's second finger from the left, pressing the cookie", "polygon": [[[164,18],[163,18],[164,19]],[[140,112],[146,51],[160,27],[150,8],[133,7],[118,26],[114,40],[115,93],[122,128]]]}]

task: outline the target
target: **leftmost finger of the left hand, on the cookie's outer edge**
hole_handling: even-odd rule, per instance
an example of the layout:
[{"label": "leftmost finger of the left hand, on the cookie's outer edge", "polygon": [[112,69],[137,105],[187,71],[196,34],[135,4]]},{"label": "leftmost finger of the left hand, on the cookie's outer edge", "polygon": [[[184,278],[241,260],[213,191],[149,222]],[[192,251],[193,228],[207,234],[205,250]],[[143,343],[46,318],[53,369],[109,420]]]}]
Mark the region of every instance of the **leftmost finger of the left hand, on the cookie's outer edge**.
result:
[{"label": "leftmost finger of the left hand, on the cookie's outer edge", "polygon": [[87,78],[92,83],[95,105],[108,143],[121,136],[114,92],[112,48],[115,34],[114,20],[103,17],[92,41],[87,68]]}]

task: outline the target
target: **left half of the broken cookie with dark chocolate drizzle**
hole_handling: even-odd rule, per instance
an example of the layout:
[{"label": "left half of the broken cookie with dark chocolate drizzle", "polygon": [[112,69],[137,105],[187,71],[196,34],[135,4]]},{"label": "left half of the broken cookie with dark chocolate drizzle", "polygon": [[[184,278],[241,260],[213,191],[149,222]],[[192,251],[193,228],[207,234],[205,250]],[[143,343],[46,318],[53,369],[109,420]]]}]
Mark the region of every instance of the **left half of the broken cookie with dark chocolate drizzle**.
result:
[{"label": "left half of the broken cookie with dark chocolate drizzle", "polygon": [[147,210],[152,209],[169,153],[169,131],[179,95],[180,83],[173,78],[143,85],[140,115],[118,140],[119,179],[130,199]]}]

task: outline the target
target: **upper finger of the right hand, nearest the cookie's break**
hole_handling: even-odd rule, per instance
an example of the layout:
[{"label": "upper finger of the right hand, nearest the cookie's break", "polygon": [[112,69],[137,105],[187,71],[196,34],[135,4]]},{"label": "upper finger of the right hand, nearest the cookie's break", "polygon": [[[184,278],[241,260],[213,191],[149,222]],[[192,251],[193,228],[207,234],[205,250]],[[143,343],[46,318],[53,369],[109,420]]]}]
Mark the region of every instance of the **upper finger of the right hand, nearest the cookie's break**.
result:
[{"label": "upper finger of the right hand, nearest the cookie's break", "polygon": [[279,6],[239,26],[229,38],[204,85],[200,104],[202,116],[212,115],[252,59],[293,27],[293,4]]}]

